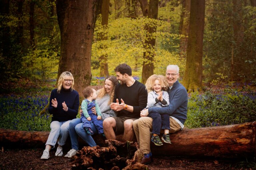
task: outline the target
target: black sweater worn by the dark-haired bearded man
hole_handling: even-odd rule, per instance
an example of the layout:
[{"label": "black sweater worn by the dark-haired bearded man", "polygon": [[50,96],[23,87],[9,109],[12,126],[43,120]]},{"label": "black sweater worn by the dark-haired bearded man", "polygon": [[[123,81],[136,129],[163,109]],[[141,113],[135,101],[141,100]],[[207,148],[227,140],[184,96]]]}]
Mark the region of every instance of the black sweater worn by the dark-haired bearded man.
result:
[{"label": "black sweater worn by the dark-haired bearded man", "polygon": [[121,104],[121,99],[123,99],[125,104],[133,106],[133,112],[123,109],[117,112],[117,117],[139,118],[140,111],[147,106],[147,98],[148,93],[145,85],[137,80],[130,87],[127,87],[126,84],[117,84],[113,102],[116,103],[116,99],[118,99]]}]

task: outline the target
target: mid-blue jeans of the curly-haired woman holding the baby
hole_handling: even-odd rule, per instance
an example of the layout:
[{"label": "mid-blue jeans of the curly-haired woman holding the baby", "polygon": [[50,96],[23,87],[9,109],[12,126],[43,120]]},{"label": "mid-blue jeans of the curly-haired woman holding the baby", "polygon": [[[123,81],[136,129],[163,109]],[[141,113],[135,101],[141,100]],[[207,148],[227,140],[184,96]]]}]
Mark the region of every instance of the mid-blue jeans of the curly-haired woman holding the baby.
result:
[{"label": "mid-blue jeans of the curly-haired woman holding the baby", "polygon": [[[91,122],[91,129],[94,134],[98,134],[98,130],[95,128],[94,124]],[[81,137],[89,146],[93,147],[97,144],[93,140],[92,136],[87,134],[83,128],[83,123],[81,119],[73,119],[69,123],[69,135],[71,139],[72,149],[78,150],[78,136]]]}]

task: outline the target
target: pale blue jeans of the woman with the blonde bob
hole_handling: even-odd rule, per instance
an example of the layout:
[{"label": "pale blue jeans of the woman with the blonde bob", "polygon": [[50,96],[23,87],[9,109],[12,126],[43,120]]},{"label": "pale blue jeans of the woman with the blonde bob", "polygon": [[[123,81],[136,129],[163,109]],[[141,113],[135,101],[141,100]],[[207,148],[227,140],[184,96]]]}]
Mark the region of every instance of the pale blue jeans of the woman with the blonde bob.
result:
[{"label": "pale blue jeans of the woman with the blonde bob", "polygon": [[51,132],[48,136],[47,142],[45,145],[51,145],[52,149],[55,147],[55,144],[57,142],[57,139],[59,137],[58,144],[63,146],[66,143],[66,140],[69,135],[69,123],[70,121],[53,121],[51,123]]}]

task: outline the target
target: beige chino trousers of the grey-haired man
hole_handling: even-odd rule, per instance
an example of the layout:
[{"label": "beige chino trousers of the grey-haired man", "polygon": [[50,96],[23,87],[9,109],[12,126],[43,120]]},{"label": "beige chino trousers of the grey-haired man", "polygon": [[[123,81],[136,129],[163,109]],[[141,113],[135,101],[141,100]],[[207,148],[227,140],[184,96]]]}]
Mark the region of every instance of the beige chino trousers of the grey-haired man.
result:
[{"label": "beige chino trousers of the grey-haired man", "polygon": [[[152,131],[152,122],[153,119],[149,117],[141,117],[133,122],[133,130],[135,132],[137,141],[140,145],[144,154],[151,152],[150,150],[150,131]],[[180,125],[170,117],[170,129],[169,133],[174,133],[181,129]],[[164,132],[163,129],[160,131],[161,133]]]}]

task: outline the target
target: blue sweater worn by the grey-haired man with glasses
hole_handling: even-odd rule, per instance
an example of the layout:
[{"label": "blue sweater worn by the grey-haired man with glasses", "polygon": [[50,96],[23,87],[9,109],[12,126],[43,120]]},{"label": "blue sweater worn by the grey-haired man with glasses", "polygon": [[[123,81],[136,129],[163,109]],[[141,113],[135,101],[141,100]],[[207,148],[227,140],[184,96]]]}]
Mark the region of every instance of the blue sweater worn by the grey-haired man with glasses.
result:
[{"label": "blue sweater worn by the grey-haired man with glasses", "polygon": [[185,87],[177,80],[172,89],[168,91],[170,104],[168,107],[152,107],[148,109],[148,112],[157,112],[160,114],[168,114],[174,118],[177,118],[183,125],[187,119],[188,110],[188,93]]}]

